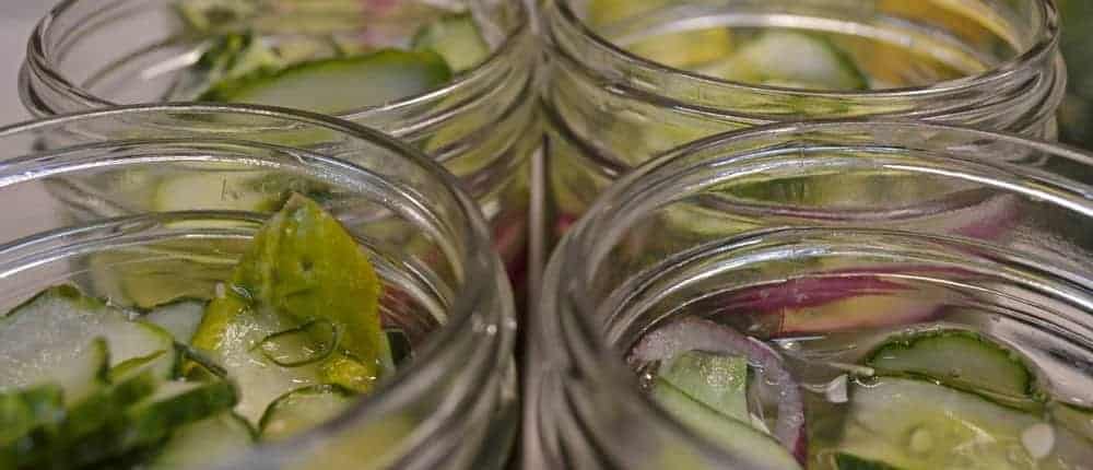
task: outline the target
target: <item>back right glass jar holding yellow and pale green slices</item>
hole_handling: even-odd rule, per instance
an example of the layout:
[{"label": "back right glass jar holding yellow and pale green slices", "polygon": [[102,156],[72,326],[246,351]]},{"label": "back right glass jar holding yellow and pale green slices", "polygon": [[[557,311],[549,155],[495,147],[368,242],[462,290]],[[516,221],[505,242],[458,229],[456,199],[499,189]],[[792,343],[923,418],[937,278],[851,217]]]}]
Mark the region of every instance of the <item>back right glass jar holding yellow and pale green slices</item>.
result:
[{"label": "back right glass jar holding yellow and pale green slices", "polygon": [[[705,136],[884,116],[1054,138],[1066,87],[1057,13],[1045,0],[549,0],[542,16],[559,233],[619,175]],[[806,44],[754,49],[767,32]],[[780,52],[818,68],[849,63],[862,89],[747,84],[693,66],[739,69],[733,54],[756,50],[756,61]]]}]

